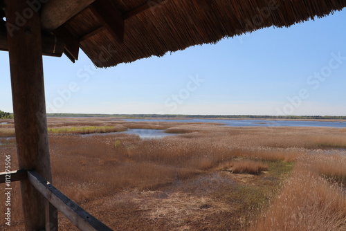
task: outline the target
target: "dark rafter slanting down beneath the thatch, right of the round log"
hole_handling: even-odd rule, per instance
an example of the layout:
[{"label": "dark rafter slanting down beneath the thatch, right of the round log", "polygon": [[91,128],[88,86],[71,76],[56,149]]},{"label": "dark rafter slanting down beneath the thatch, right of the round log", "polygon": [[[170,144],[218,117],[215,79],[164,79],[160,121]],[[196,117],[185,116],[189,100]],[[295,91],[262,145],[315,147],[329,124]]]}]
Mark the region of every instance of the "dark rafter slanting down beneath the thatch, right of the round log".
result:
[{"label": "dark rafter slanting down beneath the thatch, right of the round log", "polygon": [[97,0],[89,8],[93,14],[98,17],[102,25],[107,28],[119,44],[124,41],[124,20],[121,12],[113,6],[109,0]]}]

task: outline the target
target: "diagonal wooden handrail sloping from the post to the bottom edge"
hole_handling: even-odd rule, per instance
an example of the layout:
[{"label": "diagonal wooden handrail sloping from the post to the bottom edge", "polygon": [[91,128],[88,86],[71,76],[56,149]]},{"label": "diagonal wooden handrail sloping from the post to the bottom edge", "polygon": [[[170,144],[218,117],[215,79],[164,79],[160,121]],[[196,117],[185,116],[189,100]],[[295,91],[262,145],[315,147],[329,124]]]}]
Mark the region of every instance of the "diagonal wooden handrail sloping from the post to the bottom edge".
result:
[{"label": "diagonal wooden handrail sloping from the post to the bottom edge", "polygon": [[77,228],[83,231],[111,231],[107,225],[86,212],[80,205],[62,194],[37,172],[28,171],[28,180],[49,202],[62,212]]}]

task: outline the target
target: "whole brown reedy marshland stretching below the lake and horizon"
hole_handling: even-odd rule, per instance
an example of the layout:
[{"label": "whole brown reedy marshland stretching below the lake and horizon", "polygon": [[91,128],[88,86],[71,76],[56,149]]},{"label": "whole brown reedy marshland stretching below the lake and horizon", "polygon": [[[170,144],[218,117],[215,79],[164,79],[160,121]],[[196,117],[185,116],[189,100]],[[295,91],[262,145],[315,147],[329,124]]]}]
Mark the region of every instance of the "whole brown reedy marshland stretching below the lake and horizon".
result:
[{"label": "whole brown reedy marshland stretching below the lake and horizon", "polygon": [[[48,133],[53,185],[113,230],[346,230],[346,128],[48,118]],[[0,120],[1,169],[14,136]],[[19,187],[0,230],[24,229]]]}]

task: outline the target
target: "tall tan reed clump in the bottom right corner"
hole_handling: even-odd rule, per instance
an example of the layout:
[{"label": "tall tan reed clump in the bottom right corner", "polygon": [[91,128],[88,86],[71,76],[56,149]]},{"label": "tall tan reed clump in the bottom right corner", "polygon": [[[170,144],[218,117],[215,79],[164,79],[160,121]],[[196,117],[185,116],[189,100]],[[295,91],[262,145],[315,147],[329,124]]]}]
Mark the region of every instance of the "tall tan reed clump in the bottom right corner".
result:
[{"label": "tall tan reed clump in the bottom right corner", "polygon": [[346,230],[346,198],[340,188],[297,171],[251,230]]}]

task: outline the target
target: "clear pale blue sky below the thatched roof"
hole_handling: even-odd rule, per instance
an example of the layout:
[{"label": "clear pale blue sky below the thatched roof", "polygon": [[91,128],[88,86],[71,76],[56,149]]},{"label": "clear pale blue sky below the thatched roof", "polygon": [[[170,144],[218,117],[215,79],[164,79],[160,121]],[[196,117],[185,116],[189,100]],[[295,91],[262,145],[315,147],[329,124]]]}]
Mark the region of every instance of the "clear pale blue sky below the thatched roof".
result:
[{"label": "clear pale blue sky below the thatched roof", "polygon": [[[8,53],[0,109],[12,112]],[[346,9],[164,57],[96,69],[44,57],[48,113],[346,115]]]}]

